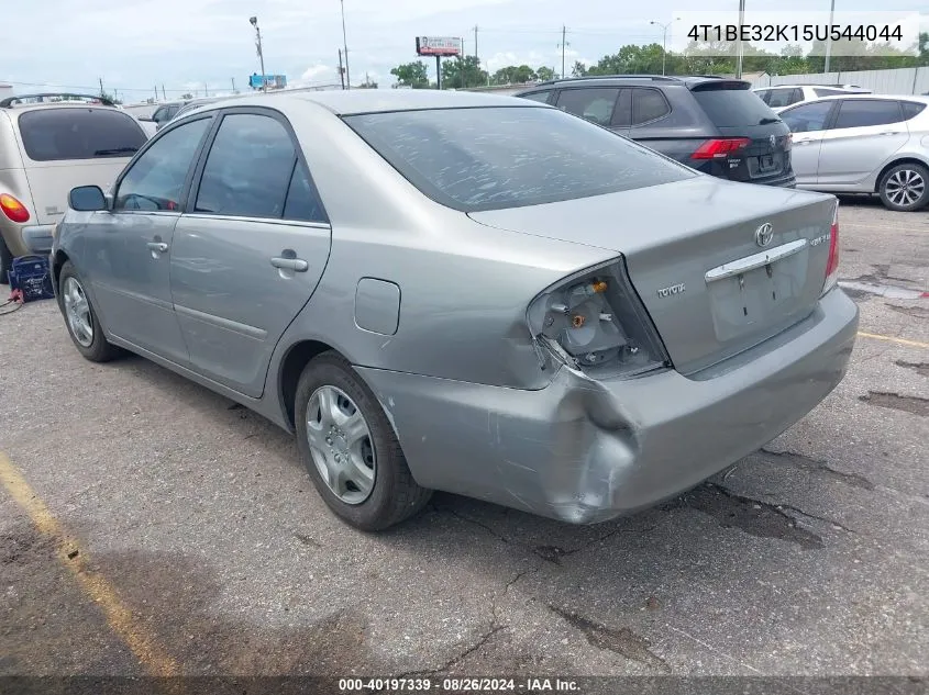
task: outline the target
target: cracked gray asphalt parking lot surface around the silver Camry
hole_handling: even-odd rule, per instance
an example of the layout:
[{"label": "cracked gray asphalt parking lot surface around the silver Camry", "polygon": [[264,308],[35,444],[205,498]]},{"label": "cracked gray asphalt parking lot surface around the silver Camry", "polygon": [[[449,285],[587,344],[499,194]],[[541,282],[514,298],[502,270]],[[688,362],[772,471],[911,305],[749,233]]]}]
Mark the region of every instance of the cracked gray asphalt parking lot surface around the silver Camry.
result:
[{"label": "cracked gray asphalt parking lot surface around the silver Camry", "polygon": [[[929,290],[929,212],[843,200],[843,279]],[[929,300],[850,292],[929,343]],[[0,316],[0,451],[188,674],[929,675],[929,349],[860,338],[776,440],[574,527],[436,494],[336,520],[291,438],[141,358],[80,359],[51,302]],[[0,490],[0,674],[142,668]]]}]

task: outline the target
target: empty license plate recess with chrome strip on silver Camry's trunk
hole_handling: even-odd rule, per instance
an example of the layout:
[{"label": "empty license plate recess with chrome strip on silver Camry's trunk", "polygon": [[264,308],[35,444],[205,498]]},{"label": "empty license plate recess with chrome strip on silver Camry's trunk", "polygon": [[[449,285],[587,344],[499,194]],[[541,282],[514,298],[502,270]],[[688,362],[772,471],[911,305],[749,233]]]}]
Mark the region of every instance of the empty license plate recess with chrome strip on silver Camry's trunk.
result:
[{"label": "empty license plate recess with chrome strip on silver Camry's trunk", "polygon": [[806,239],[800,239],[770,255],[757,254],[709,271],[707,291],[717,339],[728,341],[779,325],[801,309],[807,262]]}]

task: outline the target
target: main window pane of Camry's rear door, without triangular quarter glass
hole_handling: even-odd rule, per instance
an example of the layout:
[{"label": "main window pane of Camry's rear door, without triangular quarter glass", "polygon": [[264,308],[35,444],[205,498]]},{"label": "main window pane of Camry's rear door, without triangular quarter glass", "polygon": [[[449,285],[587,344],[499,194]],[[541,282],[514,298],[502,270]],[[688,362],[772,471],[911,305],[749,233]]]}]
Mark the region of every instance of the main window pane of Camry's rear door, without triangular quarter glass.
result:
[{"label": "main window pane of Camry's rear door, without triangular quarter glass", "polygon": [[193,212],[280,217],[296,160],[297,150],[279,121],[253,113],[226,115],[210,147]]}]

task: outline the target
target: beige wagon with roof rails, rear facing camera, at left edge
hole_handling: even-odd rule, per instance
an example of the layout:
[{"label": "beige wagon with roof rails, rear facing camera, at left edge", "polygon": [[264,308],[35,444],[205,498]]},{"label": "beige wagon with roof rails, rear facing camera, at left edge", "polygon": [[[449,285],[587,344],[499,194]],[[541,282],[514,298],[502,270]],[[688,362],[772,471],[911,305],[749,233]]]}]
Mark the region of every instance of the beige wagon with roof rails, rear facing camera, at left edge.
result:
[{"label": "beige wagon with roof rails, rear facing camera, at left edge", "polygon": [[0,100],[0,283],[13,258],[52,248],[71,188],[108,186],[145,141],[133,116],[97,97]]}]

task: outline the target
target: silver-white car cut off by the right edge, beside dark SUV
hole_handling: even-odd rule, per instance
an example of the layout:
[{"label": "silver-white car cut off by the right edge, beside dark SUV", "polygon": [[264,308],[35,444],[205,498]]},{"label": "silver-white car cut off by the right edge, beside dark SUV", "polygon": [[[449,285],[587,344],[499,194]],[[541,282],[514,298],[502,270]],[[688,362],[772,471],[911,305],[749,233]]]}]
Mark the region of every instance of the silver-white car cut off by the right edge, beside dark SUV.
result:
[{"label": "silver-white car cut off by the right edge, beside dark SUV", "polygon": [[847,94],[781,112],[794,132],[797,184],[876,193],[889,210],[929,204],[929,99]]}]

